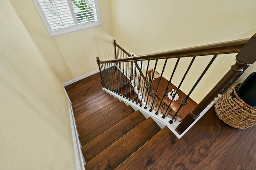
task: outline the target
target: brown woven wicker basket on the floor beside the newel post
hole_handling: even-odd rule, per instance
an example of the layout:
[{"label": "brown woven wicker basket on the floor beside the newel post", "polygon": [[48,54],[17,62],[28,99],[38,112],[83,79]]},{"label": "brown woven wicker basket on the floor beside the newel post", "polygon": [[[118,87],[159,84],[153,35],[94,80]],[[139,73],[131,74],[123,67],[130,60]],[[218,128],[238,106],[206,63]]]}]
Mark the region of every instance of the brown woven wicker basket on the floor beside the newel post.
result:
[{"label": "brown woven wicker basket on the floor beside the newel post", "polygon": [[[224,123],[238,129],[246,129],[256,125],[256,109],[246,104],[236,94],[240,84],[233,85],[216,101],[214,107],[216,114]],[[232,92],[235,98],[232,97]]]}]

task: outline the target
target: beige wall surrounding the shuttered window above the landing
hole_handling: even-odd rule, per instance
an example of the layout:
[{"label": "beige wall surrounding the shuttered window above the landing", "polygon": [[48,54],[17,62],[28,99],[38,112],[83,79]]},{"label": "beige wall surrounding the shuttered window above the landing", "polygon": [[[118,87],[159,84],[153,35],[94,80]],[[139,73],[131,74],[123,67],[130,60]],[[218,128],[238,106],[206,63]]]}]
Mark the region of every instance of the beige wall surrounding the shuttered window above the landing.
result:
[{"label": "beige wall surrounding the shuttered window above the landing", "polygon": [[[98,0],[101,25],[51,37],[32,0],[10,0],[61,83],[98,69],[96,57],[113,59],[110,3]],[[27,9],[27,10],[24,10]]]}]

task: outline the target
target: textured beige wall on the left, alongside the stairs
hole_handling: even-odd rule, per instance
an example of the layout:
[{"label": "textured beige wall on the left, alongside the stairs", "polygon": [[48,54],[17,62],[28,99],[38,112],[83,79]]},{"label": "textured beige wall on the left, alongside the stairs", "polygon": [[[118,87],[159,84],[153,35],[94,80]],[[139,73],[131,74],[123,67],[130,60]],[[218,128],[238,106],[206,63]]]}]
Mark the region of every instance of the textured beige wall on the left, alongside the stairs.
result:
[{"label": "textured beige wall on the left, alongside the stairs", "polygon": [[0,21],[0,169],[76,169],[60,81],[8,0]]}]

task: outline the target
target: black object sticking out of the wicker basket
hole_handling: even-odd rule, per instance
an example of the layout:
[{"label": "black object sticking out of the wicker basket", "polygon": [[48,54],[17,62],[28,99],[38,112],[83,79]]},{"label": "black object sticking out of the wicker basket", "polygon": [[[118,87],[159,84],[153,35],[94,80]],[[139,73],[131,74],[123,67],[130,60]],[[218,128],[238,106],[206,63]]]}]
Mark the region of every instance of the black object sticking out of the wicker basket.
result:
[{"label": "black object sticking out of the wicker basket", "polygon": [[244,102],[256,109],[256,72],[244,80],[236,93]]}]

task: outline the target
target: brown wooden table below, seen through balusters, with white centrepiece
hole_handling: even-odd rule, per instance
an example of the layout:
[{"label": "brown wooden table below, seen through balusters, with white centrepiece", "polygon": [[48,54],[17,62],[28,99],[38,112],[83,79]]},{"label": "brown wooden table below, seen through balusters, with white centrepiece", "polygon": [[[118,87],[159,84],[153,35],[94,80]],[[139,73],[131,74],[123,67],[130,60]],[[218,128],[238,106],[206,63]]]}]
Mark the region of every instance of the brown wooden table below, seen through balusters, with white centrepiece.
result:
[{"label": "brown wooden table below, seen through balusters, with white centrepiece", "polygon": [[[153,91],[155,94],[156,94],[156,89],[157,89],[159,80],[160,80],[160,77],[159,77],[159,78],[156,78],[156,79],[153,80],[153,82],[152,82],[152,91]],[[169,82],[168,80],[166,80],[164,77],[162,77],[162,80],[161,80],[161,82],[160,82],[160,86],[159,86],[159,88],[158,88],[158,94],[157,94],[158,98],[160,98],[160,101],[159,101],[159,102],[162,101],[162,98],[163,98],[163,96],[164,96],[164,93],[163,93],[163,92],[164,92],[164,90],[166,90],[166,87],[167,87],[167,85],[168,85],[168,82]],[[177,90],[177,87],[174,86],[174,85],[171,83],[170,86],[169,86],[169,88],[168,88],[168,92],[171,92],[172,89]],[[172,116],[173,116],[173,115],[176,113],[176,111],[179,109],[179,107],[180,107],[180,105],[181,105],[181,100],[184,99],[184,98],[186,98],[186,96],[187,96],[187,95],[184,94],[181,90],[179,90],[177,94],[179,95],[178,100],[173,101],[172,104],[171,104],[171,106],[170,106],[171,109],[172,109],[172,110],[170,111],[170,113],[171,113]],[[171,102],[171,100],[168,98],[168,96],[165,96],[163,102],[165,102],[167,105],[169,105],[170,102]],[[194,109],[196,106],[197,106],[196,102],[194,102],[194,100],[192,100],[191,98],[188,98],[188,103],[187,103],[186,105],[184,105],[184,106],[180,109],[180,111],[178,112],[178,115],[180,115],[180,117],[181,117],[182,119],[184,119],[184,118],[186,117],[186,115],[187,115],[192,109]]]}]

